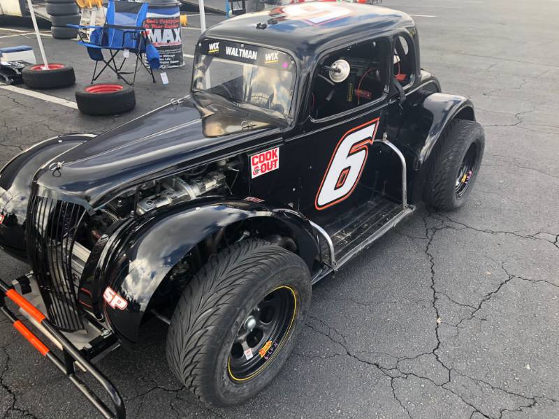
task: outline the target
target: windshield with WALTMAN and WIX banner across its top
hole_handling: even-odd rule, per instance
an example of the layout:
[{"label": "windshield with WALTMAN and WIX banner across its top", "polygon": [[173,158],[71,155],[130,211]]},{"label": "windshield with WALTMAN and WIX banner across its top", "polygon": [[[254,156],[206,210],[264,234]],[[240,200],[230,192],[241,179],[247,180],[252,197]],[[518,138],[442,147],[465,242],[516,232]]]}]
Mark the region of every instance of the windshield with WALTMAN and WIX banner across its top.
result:
[{"label": "windshield with WALTMAN and WIX banner across its top", "polygon": [[295,63],[288,54],[213,39],[205,39],[198,47],[193,90],[289,115]]}]

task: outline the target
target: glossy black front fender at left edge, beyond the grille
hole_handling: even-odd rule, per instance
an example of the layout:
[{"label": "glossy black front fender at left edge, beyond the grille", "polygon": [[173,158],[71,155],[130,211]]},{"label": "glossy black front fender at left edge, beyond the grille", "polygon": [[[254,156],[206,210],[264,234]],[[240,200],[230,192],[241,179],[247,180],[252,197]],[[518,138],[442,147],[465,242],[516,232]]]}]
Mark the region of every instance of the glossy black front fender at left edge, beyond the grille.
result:
[{"label": "glossy black front fender at left edge, beyond the grille", "polygon": [[89,134],[68,134],[49,138],[17,154],[0,171],[0,248],[20,260],[27,260],[24,224],[35,173],[60,154],[91,138]]}]

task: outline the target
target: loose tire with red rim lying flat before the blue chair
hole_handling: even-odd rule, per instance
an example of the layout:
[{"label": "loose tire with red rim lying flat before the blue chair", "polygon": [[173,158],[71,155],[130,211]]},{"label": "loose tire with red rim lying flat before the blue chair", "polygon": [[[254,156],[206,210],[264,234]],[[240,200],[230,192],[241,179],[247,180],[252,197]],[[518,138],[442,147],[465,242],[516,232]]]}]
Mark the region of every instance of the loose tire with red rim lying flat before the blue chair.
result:
[{"label": "loose tire with red rim lying flat before the blue chair", "polygon": [[75,92],[78,109],[87,115],[117,115],[133,110],[136,94],[123,84],[97,83]]}]

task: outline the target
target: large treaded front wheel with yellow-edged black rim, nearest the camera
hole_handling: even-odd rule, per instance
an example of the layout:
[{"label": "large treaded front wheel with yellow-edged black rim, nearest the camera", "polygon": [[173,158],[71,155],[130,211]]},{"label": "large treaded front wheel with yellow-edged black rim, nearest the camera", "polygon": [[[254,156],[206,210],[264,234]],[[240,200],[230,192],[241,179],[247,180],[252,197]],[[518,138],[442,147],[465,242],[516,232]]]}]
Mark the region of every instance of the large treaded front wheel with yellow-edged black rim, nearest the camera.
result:
[{"label": "large treaded front wheel with yellow-edged black rim, nearest the camera", "polygon": [[279,373],[310,297],[310,273],[296,254],[261,240],[228,247],[180,297],[167,336],[170,369],[203,402],[244,402]]}]

